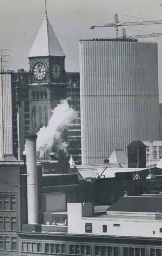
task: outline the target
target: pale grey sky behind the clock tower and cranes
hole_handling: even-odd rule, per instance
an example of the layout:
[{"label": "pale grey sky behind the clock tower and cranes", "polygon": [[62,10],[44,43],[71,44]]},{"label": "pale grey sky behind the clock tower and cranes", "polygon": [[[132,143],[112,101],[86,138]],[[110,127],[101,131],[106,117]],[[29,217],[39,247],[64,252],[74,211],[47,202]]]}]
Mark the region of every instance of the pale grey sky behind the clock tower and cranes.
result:
[{"label": "pale grey sky behind the clock tower and cranes", "polygon": [[[79,71],[79,40],[115,37],[114,28],[92,25],[119,22],[162,20],[162,0],[46,0],[49,21],[66,54],[67,72]],[[0,48],[5,70],[29,70],[28,53],[45,15],[45,0],[0,0]],[[104,22],[102,22],[104,21]],[[127,36],[162,33],[162,24],[125,27]],[[121,29],[119,29],[121,36]],[[158,43],[159,102],[162,102],[162,37],[140,39]]]}]

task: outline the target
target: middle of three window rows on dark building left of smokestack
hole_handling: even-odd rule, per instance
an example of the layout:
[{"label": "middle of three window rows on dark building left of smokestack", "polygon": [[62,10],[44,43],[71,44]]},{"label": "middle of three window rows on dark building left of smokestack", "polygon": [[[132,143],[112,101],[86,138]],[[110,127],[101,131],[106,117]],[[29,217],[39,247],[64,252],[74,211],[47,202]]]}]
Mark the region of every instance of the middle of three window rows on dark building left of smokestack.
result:
[{"label": "middle of three window rows on dark building left of smokestack", "polygon": [[0,216],[0,230],[16,230],[16,217]]}]

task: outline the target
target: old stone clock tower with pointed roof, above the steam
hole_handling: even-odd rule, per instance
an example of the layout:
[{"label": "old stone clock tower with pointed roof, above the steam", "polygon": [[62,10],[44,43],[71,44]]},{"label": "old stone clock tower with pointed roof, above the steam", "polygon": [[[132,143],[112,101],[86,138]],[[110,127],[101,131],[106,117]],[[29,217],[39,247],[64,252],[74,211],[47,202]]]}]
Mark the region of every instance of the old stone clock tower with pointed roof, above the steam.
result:
[{"label": "old stone clock tower with pointed roof, above the steam", "polygon": [[65,53],[48,20],[47,12],[29,52],[30,131],[47,126],[60,99],[66,96]]}]

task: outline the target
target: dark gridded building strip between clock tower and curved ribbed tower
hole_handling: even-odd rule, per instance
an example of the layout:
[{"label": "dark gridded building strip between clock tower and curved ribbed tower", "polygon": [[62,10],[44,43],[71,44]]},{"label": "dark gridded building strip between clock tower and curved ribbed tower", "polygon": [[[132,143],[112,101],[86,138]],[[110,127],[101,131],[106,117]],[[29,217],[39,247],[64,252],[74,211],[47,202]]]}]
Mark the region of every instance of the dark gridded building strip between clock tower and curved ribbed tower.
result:
[{"label": "dark gridded building strip between clock tower and curved ribbed tower", "polygon": [[81,126],[80,126],[80,83],[79,72],[67,73],[67,96],[70,106],[77,111],[77,118],[68,127],[68,153],[77,164],[81,164]]}]

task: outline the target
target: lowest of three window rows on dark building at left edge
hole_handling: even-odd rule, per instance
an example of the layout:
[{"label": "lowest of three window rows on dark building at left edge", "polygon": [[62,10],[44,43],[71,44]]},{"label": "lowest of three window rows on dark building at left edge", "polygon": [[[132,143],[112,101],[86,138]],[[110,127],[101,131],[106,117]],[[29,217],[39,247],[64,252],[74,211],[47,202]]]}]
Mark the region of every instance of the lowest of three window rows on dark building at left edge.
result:
[{"label": "lowest of three window rows on dark building at left edge", "polygon": [[0,250],[16,251],[17,250],[16,237],[1,237],[0,236]]}]

